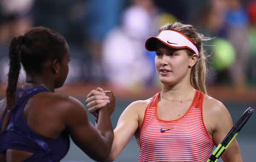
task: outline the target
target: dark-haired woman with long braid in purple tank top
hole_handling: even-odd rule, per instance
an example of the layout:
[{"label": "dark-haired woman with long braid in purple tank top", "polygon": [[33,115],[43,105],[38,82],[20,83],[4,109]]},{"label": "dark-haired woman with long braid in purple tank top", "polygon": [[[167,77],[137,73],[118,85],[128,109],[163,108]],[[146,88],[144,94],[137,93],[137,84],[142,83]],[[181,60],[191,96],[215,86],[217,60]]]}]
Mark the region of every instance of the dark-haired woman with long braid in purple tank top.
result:
[{"label": "dark-haired woman with long braid in purple tank top", "polygon": [[[115,97],[101,92],[111,103],[99,110],[95,128],[78,99],[54,93],[69,71],[64,37],[49,28],[32,28],[13,38],[9,58],[6,98],[0,101],[0,162],[59,162],[69,150],[70,136],[90,158],[108,157]],[[17,88],[20,62],[26,83]]]}]

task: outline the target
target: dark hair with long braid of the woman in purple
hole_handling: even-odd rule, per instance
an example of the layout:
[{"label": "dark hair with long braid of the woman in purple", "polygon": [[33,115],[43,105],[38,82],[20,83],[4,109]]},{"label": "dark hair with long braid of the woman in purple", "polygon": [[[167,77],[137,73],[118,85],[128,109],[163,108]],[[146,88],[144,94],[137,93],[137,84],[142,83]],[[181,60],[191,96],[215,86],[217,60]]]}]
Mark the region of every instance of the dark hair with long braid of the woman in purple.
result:
[{"label": "dark hair with long braid of the woman in purple", "polygon": [[[2,131],[10,118],[10,110],[15,105],[17,82],[21,64],[26,74],[41,74],[44,63],[49,60],[61,61],[66,50],[64,37],[45,27],[35,27],[23,36],[14,37],[9,46],[9,74],[6,88],[7,114]],[[20,64],[21,63],[21,64]]]}]

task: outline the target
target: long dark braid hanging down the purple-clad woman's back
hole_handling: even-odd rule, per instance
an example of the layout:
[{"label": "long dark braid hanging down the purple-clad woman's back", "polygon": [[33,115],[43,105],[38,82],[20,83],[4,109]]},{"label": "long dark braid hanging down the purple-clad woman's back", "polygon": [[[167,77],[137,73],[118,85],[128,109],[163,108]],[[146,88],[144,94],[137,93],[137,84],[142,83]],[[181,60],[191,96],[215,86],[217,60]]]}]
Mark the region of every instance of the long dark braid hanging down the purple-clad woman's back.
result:
[{"label": "long dark braid hanging down the purple-clad woman's back", "polygon": [[17,82],[20,74],[20,46],[22,45],[21,40],[22,40],[21,36],[15,37],[13,38],[9,46],[10,67],[9,67],[9,74],[8,74],[8,85],[6,88],[7,114],[3,121],[2,131],[5,129],[9,121],[10,110],[12,106],[15,104],[16,88],[17,88]]}]

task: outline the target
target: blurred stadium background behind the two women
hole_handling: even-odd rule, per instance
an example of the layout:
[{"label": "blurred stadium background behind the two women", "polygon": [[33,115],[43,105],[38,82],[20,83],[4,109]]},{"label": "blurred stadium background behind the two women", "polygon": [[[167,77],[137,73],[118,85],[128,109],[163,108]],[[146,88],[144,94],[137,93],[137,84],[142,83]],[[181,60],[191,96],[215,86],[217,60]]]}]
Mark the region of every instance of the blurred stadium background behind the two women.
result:
[{"label": "blurred stadium background behind the two women", "polygon": [[[0,99],[5,96],[12,37],[45,26],[62,34],[70,47],[70,72],[56,93],[85,104],[92,89],[113,91],[115,128],[129,103],[160,91],[155,54],[145,50],[145,40],[175,21],[214,38],[205,43],[207,91],[226,105],[233,122],[248,107],[256,108],[256,0],[0,0]],[[24,81],[21,71],[19,84]],[[256,159],[255,116],[237,136],[244,162]],[[133,138],[115,161],[135,162],[138,155]],[[62,162],[93,161],[71,143]]]}]

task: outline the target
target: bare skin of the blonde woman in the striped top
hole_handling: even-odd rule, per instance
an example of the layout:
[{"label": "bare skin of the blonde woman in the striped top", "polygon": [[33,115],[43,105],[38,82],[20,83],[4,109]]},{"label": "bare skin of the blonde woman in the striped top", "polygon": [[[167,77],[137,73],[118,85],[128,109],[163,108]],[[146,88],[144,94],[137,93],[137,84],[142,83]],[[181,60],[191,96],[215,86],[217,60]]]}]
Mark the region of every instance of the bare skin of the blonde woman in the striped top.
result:
[{"label": "bare skin of the blonde woman in the striped top", "polygon": [[[162,94],[164,98],[170,100],[182,100],[174,102],[159,97],[157,103],[157,117],[162,120],[175,120],[182,117],[188,111],[195,95],[195,88],[190,84],[191,68],[198,60],[197,54],[189,55],[186,50],[176,50],[163,43],[157,43],[155,66],[158,77],[162,82]],[[191,89],[192,88],[192,89]],[[190,91],[191,90],[191,91]],[[87,107],[91,113],[108,101],[101,95],[92,95],[103,91],[97,89],[91,91],[87,96]],[[152,98],[132,102],[123,111],[114,129],[114,141],[111,154],[105,162],[113,161],[125,148],[132,136],[138,142],[139,130],[143,123],[145,109]],[[172,109],[169,106],[172,104]],[[232,119],[227,108],[218,100],[204,96],[203,120],[210,138],[217,146],[226,134],[233,127]],[[230,144],[222,154],[224,162],[242,162],[241,153],[236,139]]]}]

